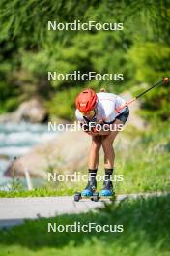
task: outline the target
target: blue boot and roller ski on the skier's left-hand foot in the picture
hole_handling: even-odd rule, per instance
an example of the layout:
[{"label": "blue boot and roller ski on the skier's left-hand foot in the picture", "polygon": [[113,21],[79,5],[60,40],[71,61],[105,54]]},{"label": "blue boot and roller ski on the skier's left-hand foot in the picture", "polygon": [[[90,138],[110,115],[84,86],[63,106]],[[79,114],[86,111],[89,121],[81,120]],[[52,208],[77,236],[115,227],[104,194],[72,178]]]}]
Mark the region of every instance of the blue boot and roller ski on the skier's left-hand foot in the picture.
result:
[{"label": "blue boot and roller ski on the skier's left-hand foot in the picture", "polygon": [[92,178],[85,189],[80,193],[76,192],[74,194],[74,201],[78,202],[81,199],[91,199],[92,201],[99,201],[99,193],[97,190],[97,181],[95,178]]}]

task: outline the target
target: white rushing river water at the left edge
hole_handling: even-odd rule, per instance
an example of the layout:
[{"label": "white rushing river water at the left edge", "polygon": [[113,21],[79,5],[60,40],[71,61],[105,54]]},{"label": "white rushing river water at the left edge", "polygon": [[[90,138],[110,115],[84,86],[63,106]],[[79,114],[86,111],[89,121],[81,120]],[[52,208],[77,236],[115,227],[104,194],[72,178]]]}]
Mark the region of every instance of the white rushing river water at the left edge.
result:
[{"label": "white rushing river water at the left edge", "polygon": [[32,146],[55,136],[56,133],[47,130],[47,124],[0,124],[0,187],[7,186],[10,181],[3,174],[14,157],[27,153]]}]

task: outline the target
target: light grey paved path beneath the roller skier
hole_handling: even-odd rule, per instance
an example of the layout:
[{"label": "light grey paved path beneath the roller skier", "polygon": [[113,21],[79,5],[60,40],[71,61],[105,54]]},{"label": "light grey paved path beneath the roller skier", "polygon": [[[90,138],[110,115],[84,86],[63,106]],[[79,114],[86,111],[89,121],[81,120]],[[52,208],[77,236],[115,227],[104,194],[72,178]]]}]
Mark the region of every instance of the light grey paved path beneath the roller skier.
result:
[{"label": "light grey paved path beneath the roller skier", "polygon": [[[118,195],[116,201],[130,198],[152,197],[167,193],[141,193]],[[8,228],[24,222],[25,219],[53,217],[64,213],[80,213],[102,208],[104,202],[93,202],[90,199],[74,202],[73,197],[35,197],[35,198],[0,198],[0,228]]]}]

